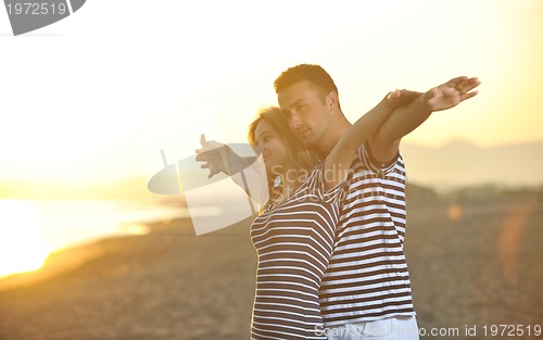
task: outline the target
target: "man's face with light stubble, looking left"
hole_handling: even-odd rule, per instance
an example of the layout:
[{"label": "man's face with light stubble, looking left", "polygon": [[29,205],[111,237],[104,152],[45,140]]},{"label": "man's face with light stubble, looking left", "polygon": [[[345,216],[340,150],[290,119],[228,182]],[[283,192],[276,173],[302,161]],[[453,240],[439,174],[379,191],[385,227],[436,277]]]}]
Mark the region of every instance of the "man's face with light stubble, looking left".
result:
[{"label": "man's face with light stubble, looking left", "polygon": [[289,126],[306,148],[318,148],[331,126],[327,98],[310,81],[293,84],[278,93]]}]

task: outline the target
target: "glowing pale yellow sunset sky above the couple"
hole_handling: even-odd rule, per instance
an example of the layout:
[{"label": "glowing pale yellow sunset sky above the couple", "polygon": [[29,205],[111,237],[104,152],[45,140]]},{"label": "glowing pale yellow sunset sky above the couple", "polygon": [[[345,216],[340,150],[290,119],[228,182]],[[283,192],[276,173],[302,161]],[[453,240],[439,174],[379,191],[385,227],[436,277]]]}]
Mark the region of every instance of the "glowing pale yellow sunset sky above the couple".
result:
[{"label": "glowing pale yellow sunset sky above the couple", "polygon": [[273,81],[315,63],[351,122],[390,90],[477,76],[404,142],[543,141],[543,1],[96,1],[14,37],[0,10],[0,181],[149,178],[200,134],[243,142]]}]

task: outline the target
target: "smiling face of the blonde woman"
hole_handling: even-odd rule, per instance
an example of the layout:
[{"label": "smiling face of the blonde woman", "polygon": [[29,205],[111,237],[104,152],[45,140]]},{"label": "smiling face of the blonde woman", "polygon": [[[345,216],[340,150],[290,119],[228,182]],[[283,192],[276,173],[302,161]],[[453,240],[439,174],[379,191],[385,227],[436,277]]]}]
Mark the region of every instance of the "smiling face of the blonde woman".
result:
[{"label": "smiling face of the blonde woman", "polygon": [[262,119],[254,130],[255,147],[262,152],[266,171],[278,174],[289,162],[287,146],[277,130],[266,119]]}]

